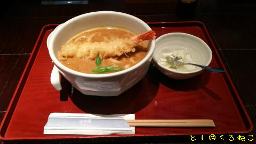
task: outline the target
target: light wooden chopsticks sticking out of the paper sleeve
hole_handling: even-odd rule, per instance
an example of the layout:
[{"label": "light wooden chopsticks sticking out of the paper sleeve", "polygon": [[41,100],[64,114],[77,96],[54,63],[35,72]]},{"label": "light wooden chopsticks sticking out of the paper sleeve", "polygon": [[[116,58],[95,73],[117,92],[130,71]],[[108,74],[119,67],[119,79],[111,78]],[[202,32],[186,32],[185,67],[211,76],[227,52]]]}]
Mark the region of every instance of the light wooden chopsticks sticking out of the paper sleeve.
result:
[{"label": "light wooden chopsticks sticking out of the paper sleeve", "polygon": [[126,119],[126,122],[141,127],[215,127],[212,119]]}]

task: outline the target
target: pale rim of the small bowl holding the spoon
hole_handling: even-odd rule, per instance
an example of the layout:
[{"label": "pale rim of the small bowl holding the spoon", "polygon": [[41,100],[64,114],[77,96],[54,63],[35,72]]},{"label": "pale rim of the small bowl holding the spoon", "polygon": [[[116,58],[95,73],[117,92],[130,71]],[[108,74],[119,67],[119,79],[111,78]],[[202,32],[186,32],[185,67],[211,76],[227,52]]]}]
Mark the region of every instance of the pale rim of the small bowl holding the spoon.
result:
[{"label": "pale rim of the small bowl holding the spoon", "polygon": [[176,74],[194,74],[194,73],[198,73],[199,71],[202,71],[203,69],[200,68],[200,69],[195,69],[195,70],[191,70],[191,71],[178,71],[178,70],[175,70],[175,69],[170,69],[170,68],[167,68],[161,64],[158,64],[158,60],[155,58],[155,52],[156,52],[156,49],[157,49],[157,42],[160,41],[162,38],[165,38],[165,37],[171,37],[171,36],[174,36],[174,35],[181,35],[181,36],[187,36],[189,38],[193,37],[195,39],[198,40],[199,43],[202,43],[206,50],[208,50],[210,53],[210,57],[208,59],[208,61],[206,61],[206,65],[205,66],[209,66],[211,61],[212,61],[212,50],[211,48],[209,47],[209,45],[207,45],[203,39],[197,37],[197,36],[194,36],[194,35],[191,35],[191,34],[187,34],[187,33],[167,33],[167,34],[164,34],[162,36],[159,36],[157,39],[156,39],[156,46],[155,46],[155,51],[153,53],[153,60],[155,62],[156,65],[158,65],[159,67],[167,70],[167,71],[171,71],[172,73],[176,73]]}]

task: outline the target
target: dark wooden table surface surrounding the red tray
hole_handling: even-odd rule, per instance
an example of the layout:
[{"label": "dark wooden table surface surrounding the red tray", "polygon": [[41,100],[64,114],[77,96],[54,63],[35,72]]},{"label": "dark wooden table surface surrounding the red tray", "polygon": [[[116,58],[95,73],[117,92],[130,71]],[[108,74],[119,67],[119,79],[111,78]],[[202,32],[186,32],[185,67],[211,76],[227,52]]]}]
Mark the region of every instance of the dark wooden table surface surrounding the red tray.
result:
[{"label": "dark wooden table surface surrounding the red tray", "polygon": [[[217,46],[227,72],[233,80],[247,113],[255,126],[256,118],[256,2],[238,0],[199,0],[195,15],[176,14],[176,0],[161,1],[103,1],[90,0],[89,4],[42,5],[41,1],[1,2],[0,33],[0,122],[26,66],[40,30],[47,24],[59,24],[79,14],[93,11],[118,11],[132,14],[145,22],[201,21]],[[234,125],[235,126],[235,125]],[[256,130],[244,134],[245,141],[256,143]],[[253,141],[247,140],[253,135]],[[251,136],[250,136],[251,137]],[[2,142],[2,141],[0,141]],[[5,141],[6,142],[6,141]],[[5,143],[2,142],[2,143]],[[83,140],[11,141],[14,143],[79,143],[99,142]],[[103,142],[103,141],[100,141]],[[191,142],[190,136],[111,139],[106,142]],[[200,142],[200,141],[197,141]],[[206,141],[201,141],[201,143]],[[206,143],[208,143],[207,141]],[[213,142],[213,141],[210,141]],[[210,143],[209,142],[209,143]],[[214,141],[217,142],[217,141]],[[218,141],[218,143],[227,141]]]}]

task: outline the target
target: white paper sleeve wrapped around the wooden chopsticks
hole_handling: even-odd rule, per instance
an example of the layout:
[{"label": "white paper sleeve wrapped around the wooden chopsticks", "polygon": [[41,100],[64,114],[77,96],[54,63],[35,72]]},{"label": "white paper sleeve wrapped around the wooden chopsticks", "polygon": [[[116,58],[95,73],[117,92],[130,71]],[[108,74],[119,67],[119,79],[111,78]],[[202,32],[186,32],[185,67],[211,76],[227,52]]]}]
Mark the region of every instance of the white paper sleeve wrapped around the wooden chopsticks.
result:
[{"label": "white paper sleeve wrapped around the wooden chopsticks", "polygon": [[135,115],[51,113],[44,126],[44,134],[134,134],[135,128],[123,119],[135,119]]}]

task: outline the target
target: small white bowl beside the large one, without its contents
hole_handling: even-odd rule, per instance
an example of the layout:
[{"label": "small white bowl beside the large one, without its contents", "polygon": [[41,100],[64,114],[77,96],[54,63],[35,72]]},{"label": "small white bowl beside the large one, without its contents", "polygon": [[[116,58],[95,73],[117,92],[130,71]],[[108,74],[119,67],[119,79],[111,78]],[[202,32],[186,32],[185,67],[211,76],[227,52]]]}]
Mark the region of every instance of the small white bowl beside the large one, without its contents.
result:
[{"label": "small white bowl beside the large one, without its contents", "polygon": [[212,51],[210,47],[201,39],[194,35],[186,33],[169,33],[156,39],[153,60],[155,66],[166,76],[173,79],[187,79],[196,76],[202,72],[202,69],[196,67],[191,71],[182,71],[178,69],[167,68],[159,61],[164,57],[163,53],[171,53],[174,50],[187,49],[194,55],[195,61],[199,65],[208,66],[212,60]]}]

